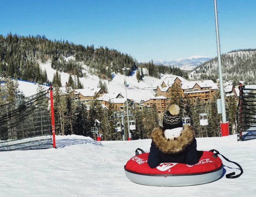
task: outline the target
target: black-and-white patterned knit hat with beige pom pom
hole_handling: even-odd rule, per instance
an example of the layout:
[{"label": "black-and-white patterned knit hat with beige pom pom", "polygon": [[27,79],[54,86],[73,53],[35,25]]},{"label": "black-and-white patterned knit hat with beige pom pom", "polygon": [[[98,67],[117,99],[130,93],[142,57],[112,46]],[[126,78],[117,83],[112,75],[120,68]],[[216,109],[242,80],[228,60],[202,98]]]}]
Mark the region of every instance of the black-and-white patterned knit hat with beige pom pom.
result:
[{"label": "black-and-white patterned knit hat with beige pom pom", "polygon": [[173,104],[169,107],[168,111],[165,112],[163,118],[164,129],[173,129],[177,127],[183,127],[182,120],[180,117],[180,107]]}]

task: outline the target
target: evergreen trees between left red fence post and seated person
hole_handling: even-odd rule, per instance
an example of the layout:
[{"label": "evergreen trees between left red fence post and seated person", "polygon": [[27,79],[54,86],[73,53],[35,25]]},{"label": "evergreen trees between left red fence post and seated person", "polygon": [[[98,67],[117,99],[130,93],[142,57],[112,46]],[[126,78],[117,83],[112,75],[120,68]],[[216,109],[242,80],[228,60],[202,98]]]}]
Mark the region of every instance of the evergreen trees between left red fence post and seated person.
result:
[{"label": "evergreen trees between left red fence post and seated person", "polygon": [[[122,140],[122,132],[116,131],[117,122],[121,122],[120,117],[115,116],[117,108],[109,100],[108,109],[104,108],[101,101],[94,96],[90,105],[77,100],[71,93],[71,89],[66,89],[67,94],[63,94],[57,86],[54,88],[54,118],[57,135],[84,135],[96,139],[97,134],[91,132],[95,127],[95,120],[99,120],[101,126],[99,131],[103,140]],[[124,109],[126,110],[126,108]],[[133,104],[129,106],[133,116],[130,120],[136,121],[136,131],[131,132],[133,139],[150,138],[153,127],[158,125],[158,113],[156,106],[144,107],[139,111]],[[127,117],[127,116],[126,116]],[[125,136],[127,139],[127,118],[124,118]]]}]

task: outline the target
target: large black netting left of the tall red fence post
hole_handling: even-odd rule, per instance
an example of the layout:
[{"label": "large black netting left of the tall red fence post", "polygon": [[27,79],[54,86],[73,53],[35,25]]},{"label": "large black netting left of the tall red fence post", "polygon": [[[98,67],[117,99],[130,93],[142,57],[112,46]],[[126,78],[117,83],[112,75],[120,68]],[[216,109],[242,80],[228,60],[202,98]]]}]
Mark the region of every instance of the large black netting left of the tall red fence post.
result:
[{"label": "large black netting left of the tall red fence post", "polygon": [[0,105],[0,151],[51,147],[48,91]]}]

